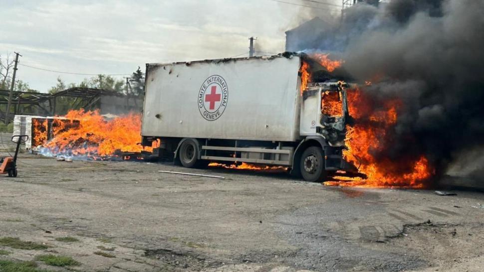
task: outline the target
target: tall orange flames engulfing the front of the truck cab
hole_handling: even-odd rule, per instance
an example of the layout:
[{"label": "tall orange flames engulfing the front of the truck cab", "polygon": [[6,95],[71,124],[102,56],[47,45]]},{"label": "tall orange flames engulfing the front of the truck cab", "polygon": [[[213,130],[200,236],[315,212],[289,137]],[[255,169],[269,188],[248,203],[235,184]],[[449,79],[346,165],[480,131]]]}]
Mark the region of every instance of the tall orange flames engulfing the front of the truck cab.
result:
[{"label": "tall orange flames engulfing the front of the truck cab", "polygon": [[[388,158],[376,154],[391,148],[392,131],[402,102],[389,99],[378,108],[361,89],[348,90],[348,108],[355,125],[347,126],[343,157],[359,167],[367,179],[335,177],[325,185],[364,187],[424,188],[433,170],[423,155],[414,158]],[[390,143],[390,144],[389,144]]]}]

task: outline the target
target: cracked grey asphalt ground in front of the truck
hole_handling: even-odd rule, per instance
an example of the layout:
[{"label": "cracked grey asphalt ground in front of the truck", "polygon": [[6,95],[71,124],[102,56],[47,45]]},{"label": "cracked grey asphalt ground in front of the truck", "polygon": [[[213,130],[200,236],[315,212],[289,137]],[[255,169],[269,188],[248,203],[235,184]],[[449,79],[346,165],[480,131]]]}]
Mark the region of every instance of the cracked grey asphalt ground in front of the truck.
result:
[{"label": "cracked grey asphalt ground in front of the truck", "polygon": [[[2,136],[5,156],[12,145]],[[21,153],[18,177],[0,176],[0,259],[53,254],[80,264],[36,261],[49,271],[482,271],[484,194],[454,192]],[[48,248],[1,244],[9,237]]]}]

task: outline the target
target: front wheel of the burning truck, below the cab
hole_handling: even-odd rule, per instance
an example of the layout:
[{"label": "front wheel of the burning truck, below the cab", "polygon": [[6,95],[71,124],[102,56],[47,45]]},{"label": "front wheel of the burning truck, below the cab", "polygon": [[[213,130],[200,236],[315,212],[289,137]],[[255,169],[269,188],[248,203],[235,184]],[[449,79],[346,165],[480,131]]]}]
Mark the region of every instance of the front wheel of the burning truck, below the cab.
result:
[{"label": "front wheel of the burning truck, below the cab", "polygon": [[310,146],[301,156],[300,169],[305,181],[317,182],[326,179],[326,170],[324,169],[323,150],[317,146]]}]

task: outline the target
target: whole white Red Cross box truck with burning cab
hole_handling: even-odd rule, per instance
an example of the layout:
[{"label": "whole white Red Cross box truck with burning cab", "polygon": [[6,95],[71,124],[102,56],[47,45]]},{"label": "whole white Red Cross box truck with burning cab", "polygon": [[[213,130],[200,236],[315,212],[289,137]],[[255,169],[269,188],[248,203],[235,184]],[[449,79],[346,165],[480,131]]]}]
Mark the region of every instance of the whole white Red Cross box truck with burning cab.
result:
[{"label": "whole white Red Cross box truck with burning cab", "polygon": [[[322,71],[324,81],[313,83]],[[321,78],[321,77],[318,77]],[[283,167],[306,181],[357,173],[343,158],[346,87],[303,53],[146,66],[142,144],[184,167]]]}]

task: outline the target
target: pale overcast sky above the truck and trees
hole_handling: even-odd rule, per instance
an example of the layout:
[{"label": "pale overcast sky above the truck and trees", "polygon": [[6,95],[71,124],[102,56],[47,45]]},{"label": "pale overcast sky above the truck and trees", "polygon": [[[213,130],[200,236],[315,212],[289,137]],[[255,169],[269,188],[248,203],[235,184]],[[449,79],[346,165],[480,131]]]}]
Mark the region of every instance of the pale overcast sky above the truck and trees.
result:
[{"label": "pale overcast sky above the truck and trees", "polygon": [[[285,30],[310,19],[314,10],[328,12],[273,0],[0,2],[2,56],[18,51],[25,65],[89,74],[129,74],[138,66],[144,70],[147,62],[232,57],[248,52],[252,35],[258,37],[258,50],[282,52]],[[66,82],[88,77],[25,66],[17,72],[17,78],[41,92],[55,85],[58,76]]]}]

